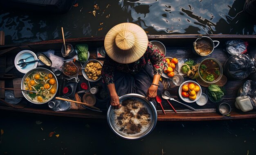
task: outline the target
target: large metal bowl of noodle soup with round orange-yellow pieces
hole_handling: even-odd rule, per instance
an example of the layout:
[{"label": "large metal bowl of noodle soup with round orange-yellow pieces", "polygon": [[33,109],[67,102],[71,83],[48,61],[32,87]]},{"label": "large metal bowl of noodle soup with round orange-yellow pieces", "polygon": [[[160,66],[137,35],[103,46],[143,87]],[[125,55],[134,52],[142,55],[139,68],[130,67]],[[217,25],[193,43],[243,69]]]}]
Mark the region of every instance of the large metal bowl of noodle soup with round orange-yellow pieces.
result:
[{"label": "large metal bowl of noodle soup with round orange-yellow pieces", "polygon": [[23,96],[29,102],[34,104],[44,104],[52,100],[56,95],[58,81],[56,76],[50,70],[45,68],[34,68],[23,76],[21,89],[37,92],[22,91]]}]

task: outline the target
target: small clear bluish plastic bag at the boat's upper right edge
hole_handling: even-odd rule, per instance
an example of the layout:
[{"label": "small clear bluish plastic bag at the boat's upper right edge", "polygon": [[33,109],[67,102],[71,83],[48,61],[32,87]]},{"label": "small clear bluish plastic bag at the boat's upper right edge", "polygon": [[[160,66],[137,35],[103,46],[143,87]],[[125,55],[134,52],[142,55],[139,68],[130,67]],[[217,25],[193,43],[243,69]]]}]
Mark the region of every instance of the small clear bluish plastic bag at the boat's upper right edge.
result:
[{"label": "small clear bluish plastic bag at the boat's upper right edge", "polygon": [[231,55],[239,55],[247,52],[248,42],[242,39],[234,39],[226,42],[226,50]]}]

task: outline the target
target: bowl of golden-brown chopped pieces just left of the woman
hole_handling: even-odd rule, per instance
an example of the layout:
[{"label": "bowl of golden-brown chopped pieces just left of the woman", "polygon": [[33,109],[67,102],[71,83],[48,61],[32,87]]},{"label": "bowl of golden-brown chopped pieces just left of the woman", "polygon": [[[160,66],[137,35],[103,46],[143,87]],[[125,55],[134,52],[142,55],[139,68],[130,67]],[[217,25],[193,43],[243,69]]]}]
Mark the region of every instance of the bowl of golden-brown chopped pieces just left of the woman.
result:
[{"label": "bowl of golden-brown chopped pieces just left of the woman", "polygon": [[91,82],[96,82],[101,79],[102,63],[96,59],[90,59],[83,64],[85,68],[82,70],[83,77]]}]

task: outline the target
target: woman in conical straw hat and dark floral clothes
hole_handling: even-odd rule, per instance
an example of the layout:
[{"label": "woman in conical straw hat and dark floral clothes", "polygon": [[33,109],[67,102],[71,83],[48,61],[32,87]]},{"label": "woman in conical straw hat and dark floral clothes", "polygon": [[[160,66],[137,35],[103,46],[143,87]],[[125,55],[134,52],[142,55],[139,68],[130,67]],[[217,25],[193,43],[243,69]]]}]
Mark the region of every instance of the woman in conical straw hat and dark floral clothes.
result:
[{"label": "woman in conical straw hat and dark floral clothes", "polygon": [[148,42],[140,26],[132,23],[114,26],[108,31],[104,46],[107,55],[101,74],[108,87],[110,105],[120,108],[118,96],[125,94],[141,94],[152,101],[157,92],[162,93],[159,79],[168,64],[159,49]]}]

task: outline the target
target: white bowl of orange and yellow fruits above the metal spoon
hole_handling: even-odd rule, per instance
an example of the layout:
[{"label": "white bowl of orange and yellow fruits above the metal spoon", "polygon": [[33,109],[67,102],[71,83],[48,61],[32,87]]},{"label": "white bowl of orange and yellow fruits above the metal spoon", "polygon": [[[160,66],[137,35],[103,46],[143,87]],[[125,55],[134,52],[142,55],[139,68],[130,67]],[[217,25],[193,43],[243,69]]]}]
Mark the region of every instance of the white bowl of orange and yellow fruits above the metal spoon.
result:
[{"label": "white bowl of orange and yellow fruits above the metal spoon", "polygon": [[179,87],[179,96],[186,103],[197,101],[201,94],[201,86],[195,81],[185,81]]}]

